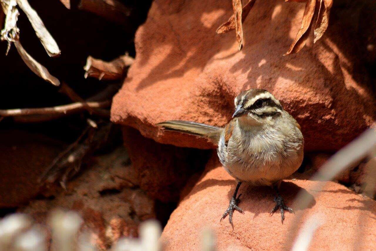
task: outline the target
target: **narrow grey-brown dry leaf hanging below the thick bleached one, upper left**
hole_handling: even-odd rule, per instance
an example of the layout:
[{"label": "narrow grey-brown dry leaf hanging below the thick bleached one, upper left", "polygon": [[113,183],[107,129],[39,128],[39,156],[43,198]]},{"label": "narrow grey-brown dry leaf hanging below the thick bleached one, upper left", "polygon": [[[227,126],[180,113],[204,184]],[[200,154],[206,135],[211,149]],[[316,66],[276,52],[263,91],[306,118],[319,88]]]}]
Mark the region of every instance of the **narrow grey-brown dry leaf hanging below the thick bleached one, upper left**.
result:
[{"label": "narrow grey-brown dry leaf hanging below the thick bleached one, upper left", "polygon": [[30,56],[29,53],[27,53],[26,50],[22,47],[20,41],[14,41],[14,45],[17,48],[17,51],[20,54],[22,60],[30,68],[30,70],[33,71],[33,73],[35,73],[36,75],[38,75],[45,81],[50,82],[53,85],[60,85],[59,79],[52,76],[47,70],[47,68],[45,68],[43,65],[39,64],[39,62],[33,59],[32,56]]}]

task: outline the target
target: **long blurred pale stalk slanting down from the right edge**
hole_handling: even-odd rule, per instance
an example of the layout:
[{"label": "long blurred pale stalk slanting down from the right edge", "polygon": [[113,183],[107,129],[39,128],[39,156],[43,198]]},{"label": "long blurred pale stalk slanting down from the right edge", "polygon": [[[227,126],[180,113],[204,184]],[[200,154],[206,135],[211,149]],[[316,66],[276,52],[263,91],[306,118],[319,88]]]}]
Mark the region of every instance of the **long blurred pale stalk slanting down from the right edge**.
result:
[{"label": "long blurred pale stalk slanting down from the right edge", "polygon": [[[326,163],[323,164],[323,166],[320,167],[317,174],[315,174],[311,180],[323,182],[318,182],[316,186],[312,187],[311,191],[313,196],[300,192],[294,202],[294,207],[302,209],[307,208],[314,199],[314,196],[320,192],[325,185],[324,181],[333,180],[340,172],[346,170],[349,166],[367,156],[367,154],[374,149],[375,145],[376,131],[373,128],[369,128],[358,138],[334,154],[328,161],[326,161]],[[303,210],[296,214],[292,224],[296,227],[290,231],[290,243],[292,243],[292,240],[294,239],[302,216]]]}]

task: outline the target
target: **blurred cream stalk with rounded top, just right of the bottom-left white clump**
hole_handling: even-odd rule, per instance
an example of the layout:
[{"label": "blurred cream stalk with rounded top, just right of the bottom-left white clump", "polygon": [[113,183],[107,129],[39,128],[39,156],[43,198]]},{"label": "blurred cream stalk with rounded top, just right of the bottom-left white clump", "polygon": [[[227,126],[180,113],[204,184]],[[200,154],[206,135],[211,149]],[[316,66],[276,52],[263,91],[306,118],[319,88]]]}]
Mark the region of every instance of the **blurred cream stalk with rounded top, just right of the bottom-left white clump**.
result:
[{"label": "blurred cream stalk with rounded top, just right of the bottom-left white clump", "polygon": [[57,210],[50,216],[53,250],[72,251],[77,244],[77,233],[82,224],[81,217],[73,211]]}]

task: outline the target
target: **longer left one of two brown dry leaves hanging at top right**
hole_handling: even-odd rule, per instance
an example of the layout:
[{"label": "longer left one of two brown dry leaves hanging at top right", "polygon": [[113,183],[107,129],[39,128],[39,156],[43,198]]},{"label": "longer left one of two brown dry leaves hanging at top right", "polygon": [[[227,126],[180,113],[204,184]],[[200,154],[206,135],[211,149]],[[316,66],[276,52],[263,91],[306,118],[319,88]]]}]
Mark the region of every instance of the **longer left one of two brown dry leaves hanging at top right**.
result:
[{"label": "longer left one of two brown dry leaves hanging at top right", "polygon": [[315,6],[316,0],[308,0],[305,6],[302,26],[300,27],[298,33],[296,34],[296,38],[290,46],[288,52],[285,53],[284,56],[289,55],[291,53],[299,52],[304,46],[307,41],[309,31],[312,27],[313,16],[315,13]]}]

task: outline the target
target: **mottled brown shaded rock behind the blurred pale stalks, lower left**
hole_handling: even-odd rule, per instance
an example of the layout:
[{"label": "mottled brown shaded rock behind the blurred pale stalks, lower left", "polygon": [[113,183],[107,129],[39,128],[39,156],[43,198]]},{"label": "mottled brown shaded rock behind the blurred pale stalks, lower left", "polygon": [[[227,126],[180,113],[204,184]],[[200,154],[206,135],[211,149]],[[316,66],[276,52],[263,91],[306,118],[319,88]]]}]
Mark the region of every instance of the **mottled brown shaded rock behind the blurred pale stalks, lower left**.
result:
[{"label": "mottled brown shaded rock behind the blurred pale stalks, lower left", "polygon": [[123,236],[138,236],[138,224],[155,218],[155,201],[138,187],[132,165],[123,148],[93,157],[90,167],[67,183],[67,190],[48,191],[19,211],[41,224],[52,210],[77,211],[82,231],[100,250],[107,250]]}]

